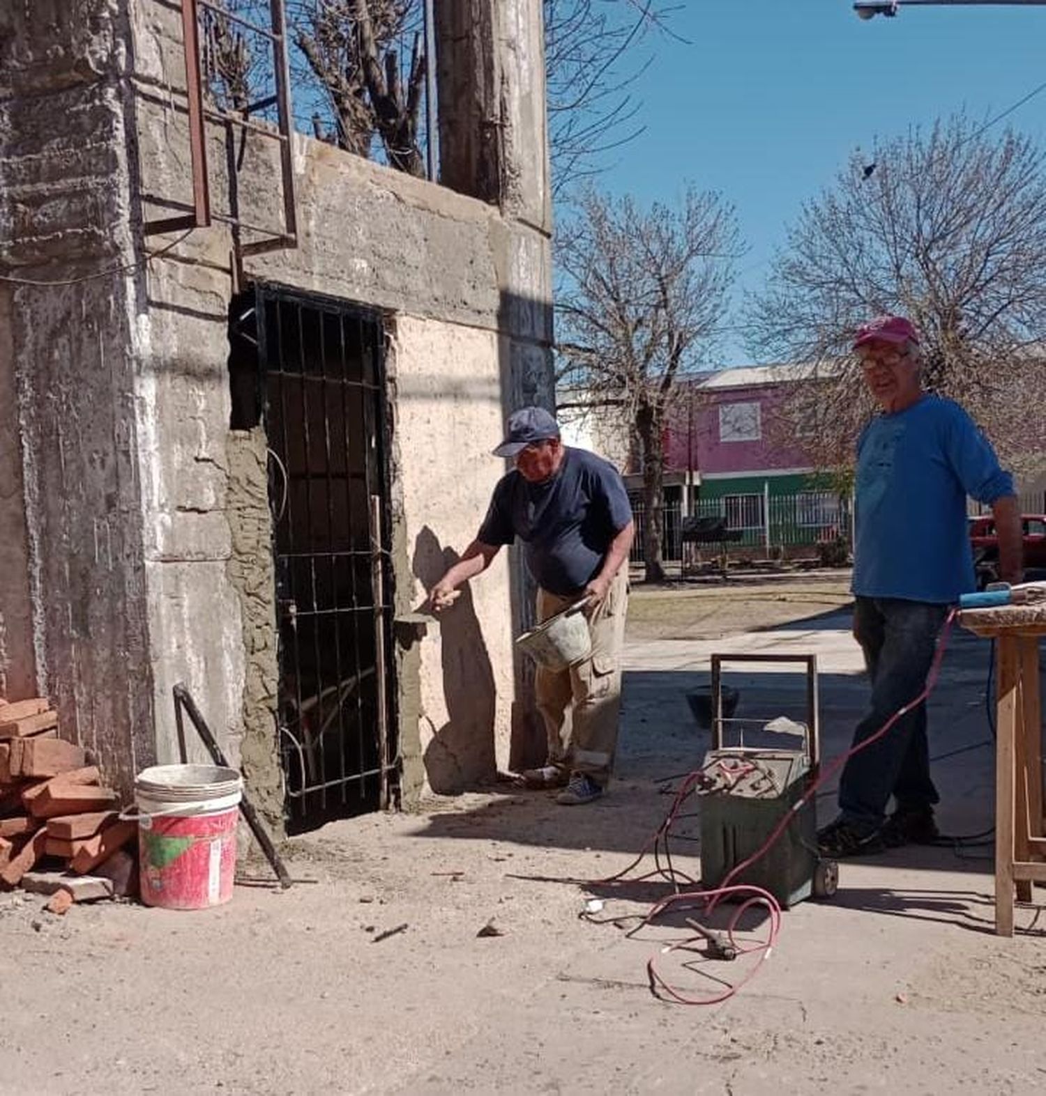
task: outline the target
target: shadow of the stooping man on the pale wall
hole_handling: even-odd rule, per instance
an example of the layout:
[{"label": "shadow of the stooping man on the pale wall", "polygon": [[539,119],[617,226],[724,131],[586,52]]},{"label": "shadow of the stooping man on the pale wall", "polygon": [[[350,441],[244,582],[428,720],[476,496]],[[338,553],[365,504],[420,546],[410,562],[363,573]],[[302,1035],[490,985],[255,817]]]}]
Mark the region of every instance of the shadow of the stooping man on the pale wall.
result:
[{"label": "shadow of the stooping man on the pale wall", "polygon": [[[424,526],[414,541],[413,572],[425,592],[458,560],[452,548],[441,548]],[[439,795],[454,795],[493,778],[494,680],[473,592],[466,584],[457,601],[440,614],[443,649],[443,696],[447,721],[425,747],[429,785]]]}]

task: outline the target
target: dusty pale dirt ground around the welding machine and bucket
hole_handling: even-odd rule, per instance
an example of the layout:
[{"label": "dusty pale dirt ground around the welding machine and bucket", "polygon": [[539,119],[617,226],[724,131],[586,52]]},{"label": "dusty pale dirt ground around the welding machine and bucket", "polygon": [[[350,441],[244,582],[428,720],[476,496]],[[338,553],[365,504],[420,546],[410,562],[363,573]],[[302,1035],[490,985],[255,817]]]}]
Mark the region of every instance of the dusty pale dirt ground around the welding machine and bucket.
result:
[{"label": "dusty pale dirt ground around the welding machine and bucket", "polygon": [[[678,918],[626,934],[636,922],[621,918],[668,892],[636,879],[649,859],[624,886],[599,882],[627,868],[707,747],[685,692],[713,650],[816,651],[826,749],[843,749],[865,689],[844,591],[839,575],[637,591],[619,779],[591,807],[499,786],[334,823],[289,843],[308,882],[280,892],[252,864],[207,913],[59,920],[0,897],[0,1092],[1043,1091],[1046,924],[1024,907],[1013,939],[993,935],[990,846],[848,861],[835,899],[787,911],[770,960],[714,1007],[658,1000],[648,959],[694,994],[740,981],[747,961],[662,955],[691,935]],[[991,825],[986,658],[956,636],[931,709],[953,834]],[[736,683],[739,712],[759,718],[803,695],[783,673]],[[696,877],[695,825],[673,863]],[[606,904],[585,920],[593,898]]]}]

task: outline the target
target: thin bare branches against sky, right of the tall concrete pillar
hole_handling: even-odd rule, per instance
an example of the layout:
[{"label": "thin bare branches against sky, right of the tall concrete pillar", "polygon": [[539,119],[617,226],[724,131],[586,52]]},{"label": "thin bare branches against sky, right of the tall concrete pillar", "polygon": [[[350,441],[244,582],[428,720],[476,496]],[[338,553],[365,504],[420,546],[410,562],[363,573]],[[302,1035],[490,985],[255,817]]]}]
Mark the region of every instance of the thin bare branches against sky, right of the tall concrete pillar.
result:
[{"label": "thin bare branches against sky, right of the tall concrete pillar", "polygon": [[643,132],[636,81],[651,34],[681,5],[656,0],[543,0],[553,193],[598,174]]}]

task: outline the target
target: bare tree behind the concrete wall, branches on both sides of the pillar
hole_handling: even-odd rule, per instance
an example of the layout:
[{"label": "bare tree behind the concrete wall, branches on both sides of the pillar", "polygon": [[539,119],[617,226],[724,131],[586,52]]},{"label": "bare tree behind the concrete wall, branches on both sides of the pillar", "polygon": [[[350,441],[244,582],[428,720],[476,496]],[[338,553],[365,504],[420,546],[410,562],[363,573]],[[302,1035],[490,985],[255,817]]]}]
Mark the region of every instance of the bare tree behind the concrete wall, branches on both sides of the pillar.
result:
[{"label": "bare tree behind the concrete wall, branches on both sides of the pillar", "polygon": [[[457,0],[442,0],[451,3]],[[269,0],[224,0],[255,25]],[[543,0],[553,180],[562,196],[641,132],[636,80],[652,34],[671,34],[660,0]],[[205,71],[227,110],[271,95],[268,42],[204,10]],[[298,124],[357,156],[375,145],[394,168],[424,174],[422,0],[288,0],[289,61]]]}]

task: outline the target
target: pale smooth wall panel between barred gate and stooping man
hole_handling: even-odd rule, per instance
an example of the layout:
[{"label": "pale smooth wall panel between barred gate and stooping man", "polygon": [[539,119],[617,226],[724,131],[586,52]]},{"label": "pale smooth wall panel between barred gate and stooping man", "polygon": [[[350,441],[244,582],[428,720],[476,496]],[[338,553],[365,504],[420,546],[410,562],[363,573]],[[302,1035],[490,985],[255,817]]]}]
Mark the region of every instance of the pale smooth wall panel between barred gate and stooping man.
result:
[{"label": "pale smooth wall panel between barred gate and stooping man", "polygon": [[[397,435],[411,602],[471,539],[503,461],[497,334],[403,316],[396,322]],[[432,463],[418,459],[431,454]],[[411,456],[413,455],[413,459]],[[496,560],[421,644],[424,776],[435,791],[467,787],[509,764],[513,675],[508,557]],[[413,776],[413,774],[408,774]]]}]

